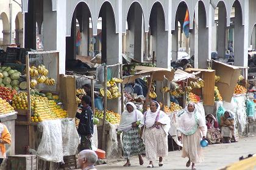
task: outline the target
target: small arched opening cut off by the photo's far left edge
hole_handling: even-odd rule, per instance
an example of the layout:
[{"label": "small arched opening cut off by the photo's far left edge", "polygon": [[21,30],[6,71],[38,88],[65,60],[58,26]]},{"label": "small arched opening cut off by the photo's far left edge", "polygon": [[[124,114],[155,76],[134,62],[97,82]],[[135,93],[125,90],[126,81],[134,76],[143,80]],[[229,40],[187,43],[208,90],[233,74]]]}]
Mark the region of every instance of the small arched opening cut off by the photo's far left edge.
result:
[{"label": "small arched opening cut off by the photo's far left edge", "polygon": [[2,25],[0,26],[0,28],[2,28],[0,31],[2,32],[2,47],[4,49],[6,49],[6,45],[10,44],[10,24],[9,24],[9,19],[8,16],[6,15],[6,13],[1,13],[1,22]]}]

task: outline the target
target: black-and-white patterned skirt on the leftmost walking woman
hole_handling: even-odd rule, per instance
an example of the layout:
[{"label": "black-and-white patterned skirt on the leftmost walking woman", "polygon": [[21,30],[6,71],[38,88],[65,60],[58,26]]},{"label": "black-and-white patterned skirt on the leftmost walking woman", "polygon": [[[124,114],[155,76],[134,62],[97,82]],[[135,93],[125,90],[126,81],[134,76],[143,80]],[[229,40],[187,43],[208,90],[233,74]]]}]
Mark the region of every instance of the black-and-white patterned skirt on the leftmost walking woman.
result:
[{"label": "black-and-white patterned skirt on the leftmost walking woman", "polygon": [[145,145],[137,127],[123,133],[123,152],[124,159],[145,153]]}]

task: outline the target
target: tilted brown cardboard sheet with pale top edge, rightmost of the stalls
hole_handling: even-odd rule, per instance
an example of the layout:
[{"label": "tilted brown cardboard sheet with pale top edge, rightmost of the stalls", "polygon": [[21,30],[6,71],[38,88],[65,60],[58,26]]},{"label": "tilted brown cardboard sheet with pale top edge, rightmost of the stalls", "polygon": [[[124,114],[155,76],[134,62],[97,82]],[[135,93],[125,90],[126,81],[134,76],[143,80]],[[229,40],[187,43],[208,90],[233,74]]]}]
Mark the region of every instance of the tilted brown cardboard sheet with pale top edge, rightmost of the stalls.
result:
[{"label": "tilted brown cardboard sheet with pale top edge, rightmost of the stalls", "polygon": [[221,80],[216,83],[221,97],[224,101],[231,102],[241,69],[239,67],[230,66],[214,60],[212,63],[212,69],[215,69],[216,75],[221,77]]}]

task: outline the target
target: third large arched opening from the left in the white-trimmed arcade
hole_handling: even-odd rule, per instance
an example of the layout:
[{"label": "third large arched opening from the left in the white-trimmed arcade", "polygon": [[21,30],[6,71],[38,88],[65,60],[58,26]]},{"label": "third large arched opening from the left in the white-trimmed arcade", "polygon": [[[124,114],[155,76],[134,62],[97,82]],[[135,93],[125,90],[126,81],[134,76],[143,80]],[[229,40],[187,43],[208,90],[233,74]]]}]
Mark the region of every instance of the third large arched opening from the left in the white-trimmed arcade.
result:
[{"label": "third large arched opening from the left in the white-trimmed arcade", "polygon": [[[127,56],[143,62],[144,16],[141,5],[138,2],[133,2],[133,4],[130,5],[127,13],[127,29],[125,36],[126,41],[124,42],[127,43],[126,46],[124,46],[125,49],[123,49],[123,51]],[[148,41],[148,36],[146,38],[146,41]],[[145,55],[148,58],[148,52]]]}]

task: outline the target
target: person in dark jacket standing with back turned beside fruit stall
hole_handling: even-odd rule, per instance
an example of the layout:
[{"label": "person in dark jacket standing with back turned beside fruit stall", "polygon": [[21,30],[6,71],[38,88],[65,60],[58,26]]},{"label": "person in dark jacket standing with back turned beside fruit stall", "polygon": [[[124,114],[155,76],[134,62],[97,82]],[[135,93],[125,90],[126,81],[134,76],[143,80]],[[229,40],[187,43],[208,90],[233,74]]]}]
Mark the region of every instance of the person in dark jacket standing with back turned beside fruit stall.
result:
[{"label": "person in dark jacket standing with back turned beside fruit stall", "polygon": [[82,110],[77,109],[76,118],[78,118],[78,134],[81,137],[79,151],[91,149],[91,137],[93,135],[93,110],[89,106],[91,98],[86,95],[82,97]]}]

